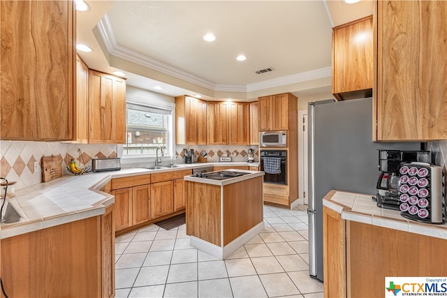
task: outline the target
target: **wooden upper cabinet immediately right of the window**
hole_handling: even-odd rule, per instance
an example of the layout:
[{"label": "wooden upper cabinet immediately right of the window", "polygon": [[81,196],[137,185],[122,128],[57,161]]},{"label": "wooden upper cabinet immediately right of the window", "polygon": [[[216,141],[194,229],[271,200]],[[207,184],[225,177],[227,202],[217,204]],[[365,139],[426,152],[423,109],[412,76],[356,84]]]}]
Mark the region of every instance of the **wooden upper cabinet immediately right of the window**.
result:
[{"label": "wooden upper cabinet immediately right of the window", "polygon": [[191,96],[175,98],[175,143],[207,144],[207,102]]}]

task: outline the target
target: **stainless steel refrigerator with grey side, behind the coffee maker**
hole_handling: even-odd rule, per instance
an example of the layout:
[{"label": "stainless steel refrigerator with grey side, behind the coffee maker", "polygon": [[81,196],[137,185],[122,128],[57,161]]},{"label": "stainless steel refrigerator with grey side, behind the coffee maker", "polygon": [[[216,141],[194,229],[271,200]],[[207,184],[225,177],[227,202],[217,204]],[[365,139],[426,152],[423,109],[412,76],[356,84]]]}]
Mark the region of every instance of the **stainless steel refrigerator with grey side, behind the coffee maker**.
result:
[{"label": "stainless steel refrigerator with grey side, behind the coffee maker", "polygon": [[377,150],[420,150],[425,143],[372,142],[372,98],[309,103],[307,117],[309,275],[323,281],[323,197],[332,189],[374,195]]}]

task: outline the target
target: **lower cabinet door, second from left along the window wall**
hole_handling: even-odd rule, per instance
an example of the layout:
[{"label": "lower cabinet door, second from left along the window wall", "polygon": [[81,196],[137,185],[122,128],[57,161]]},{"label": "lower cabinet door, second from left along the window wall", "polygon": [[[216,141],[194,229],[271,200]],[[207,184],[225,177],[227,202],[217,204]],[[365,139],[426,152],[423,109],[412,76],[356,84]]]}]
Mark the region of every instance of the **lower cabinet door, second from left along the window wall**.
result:
[{"label": "lower cabinet door, second from left along the window wall", "polygon": [[150,185],[132,188],[132,224],[144,223],[150,219]]}]

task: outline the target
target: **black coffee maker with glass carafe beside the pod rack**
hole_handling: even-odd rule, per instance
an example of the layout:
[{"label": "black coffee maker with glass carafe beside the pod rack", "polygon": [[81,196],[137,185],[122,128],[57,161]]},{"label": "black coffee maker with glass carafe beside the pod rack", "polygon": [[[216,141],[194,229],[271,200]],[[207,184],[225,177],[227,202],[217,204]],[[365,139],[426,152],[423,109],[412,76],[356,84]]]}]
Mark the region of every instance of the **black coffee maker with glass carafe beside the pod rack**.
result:
[{"label": "black coffee maker with glass carafe beside the pod rack", "polygon": [[377,181],[377,206],[400,210],[400,165],[411,162],[430,163],[430,151],[401,151],[379,149],[379,180]]}]

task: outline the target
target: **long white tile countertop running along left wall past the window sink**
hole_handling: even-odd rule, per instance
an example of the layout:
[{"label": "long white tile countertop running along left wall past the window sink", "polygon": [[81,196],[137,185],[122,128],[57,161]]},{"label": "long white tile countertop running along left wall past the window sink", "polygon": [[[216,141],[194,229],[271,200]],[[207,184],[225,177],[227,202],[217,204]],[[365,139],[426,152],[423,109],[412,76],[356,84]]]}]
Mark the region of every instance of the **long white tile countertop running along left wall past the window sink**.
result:
[{"label": "long white tile countertop running along left wall past the window sink", "polygon": [[256,167],[258,163],[182,163],[175,168],[159,170],[129,168],[113,172],[89,172],[79,176],[66,175],[16,190],[15,197],[10,198],[9,203],[22,218],[16,223],[1,223],[0,239],[104,214],[105,208],[115,202],[115,197],[99,190],[112,178],[189,168],[192,170],[211,165]]}]

